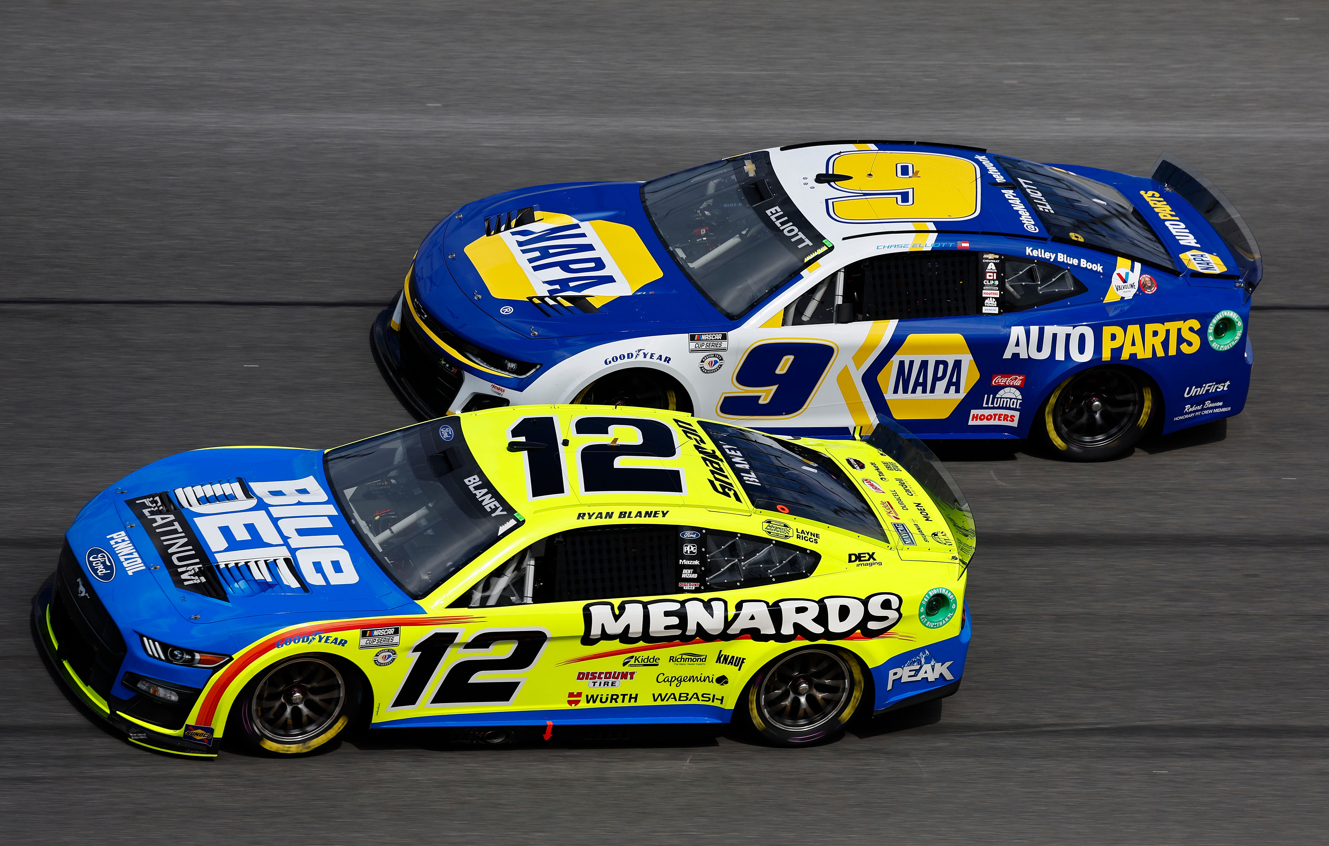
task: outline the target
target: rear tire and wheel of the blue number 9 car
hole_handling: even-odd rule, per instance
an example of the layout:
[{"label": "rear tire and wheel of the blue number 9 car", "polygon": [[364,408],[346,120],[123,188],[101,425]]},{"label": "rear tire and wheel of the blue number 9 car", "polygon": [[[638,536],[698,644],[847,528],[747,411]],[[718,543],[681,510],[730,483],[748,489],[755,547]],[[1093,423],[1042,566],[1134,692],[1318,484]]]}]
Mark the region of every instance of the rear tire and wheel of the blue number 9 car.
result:
[{"label": "rear tire and wheel of the blue number 9 car", "polygon": [[1067,461],[1108,461],[1131,450],[1158,412],[1158,390],[1126,368],[1094,368],[1057,385],[1034,428]]}]

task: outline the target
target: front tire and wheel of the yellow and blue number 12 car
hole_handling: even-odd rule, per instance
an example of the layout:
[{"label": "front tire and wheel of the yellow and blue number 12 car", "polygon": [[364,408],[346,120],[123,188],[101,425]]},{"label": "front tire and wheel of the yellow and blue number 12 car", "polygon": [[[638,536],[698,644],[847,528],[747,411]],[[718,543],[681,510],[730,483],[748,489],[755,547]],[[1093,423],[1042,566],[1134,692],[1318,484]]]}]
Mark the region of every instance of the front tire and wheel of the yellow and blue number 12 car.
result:
[{"label": "front tire and wheel of the yellow and blue number 12 car", "polygon": [[359,677],[326,656],[302,655],[254,677],[231,708],[245,746],[295,757],[324,749],[355,719]]}]

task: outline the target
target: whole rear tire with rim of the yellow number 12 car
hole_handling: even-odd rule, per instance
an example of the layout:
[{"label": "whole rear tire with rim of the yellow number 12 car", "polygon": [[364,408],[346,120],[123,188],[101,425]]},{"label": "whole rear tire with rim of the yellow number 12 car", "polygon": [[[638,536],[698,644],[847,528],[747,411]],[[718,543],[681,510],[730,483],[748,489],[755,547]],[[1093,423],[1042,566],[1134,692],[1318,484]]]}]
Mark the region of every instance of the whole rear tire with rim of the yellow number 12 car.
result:
[{"label": "whole rear tire with rim of the yellow number 12 car", "polygon": [[840,732],[859,709],[864,689],[857,659],[831,647],[808,647],[763,667],[740,701],[763,738],[801,746]]}]

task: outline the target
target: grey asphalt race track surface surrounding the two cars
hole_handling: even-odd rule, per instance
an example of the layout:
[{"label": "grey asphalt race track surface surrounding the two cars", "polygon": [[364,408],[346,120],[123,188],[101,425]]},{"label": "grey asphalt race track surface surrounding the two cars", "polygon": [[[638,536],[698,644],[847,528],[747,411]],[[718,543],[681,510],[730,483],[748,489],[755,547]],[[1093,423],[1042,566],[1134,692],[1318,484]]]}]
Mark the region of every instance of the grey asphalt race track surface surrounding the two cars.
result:
[{"label": "grey asphalt race track surface surrounding the two cars", "polygon": [[[1325,842],[1326,35],[1290,1],[0,4],[0,837]],[[98,490],[409,422],[368,325],[462,202],[853,137],[1175,151],[1267,256],[1240,417],[1103,465],[944,453],[979,523],[957,696],[795,752],[201,764],[108,736],[44,669],[29,599]]]}]

